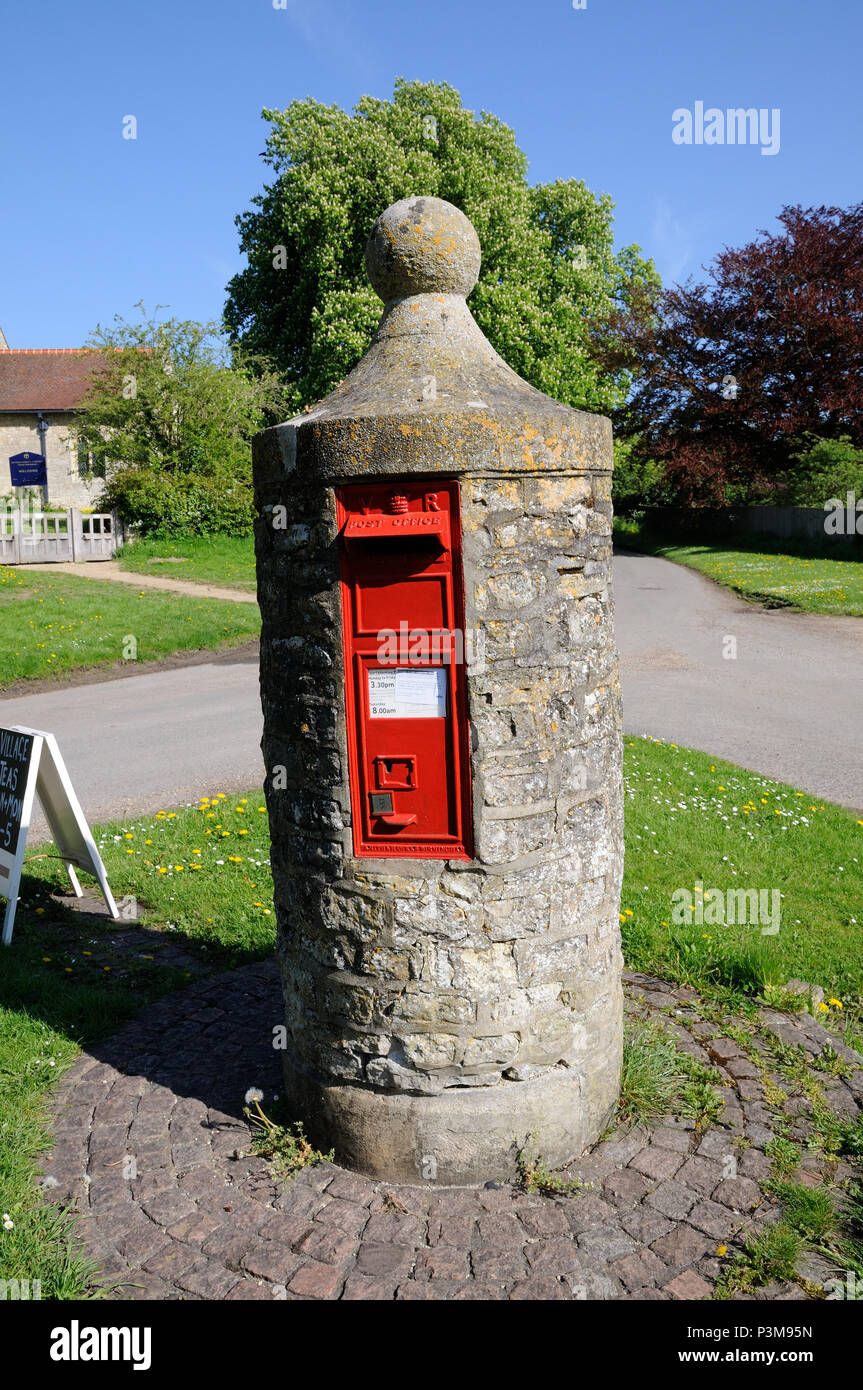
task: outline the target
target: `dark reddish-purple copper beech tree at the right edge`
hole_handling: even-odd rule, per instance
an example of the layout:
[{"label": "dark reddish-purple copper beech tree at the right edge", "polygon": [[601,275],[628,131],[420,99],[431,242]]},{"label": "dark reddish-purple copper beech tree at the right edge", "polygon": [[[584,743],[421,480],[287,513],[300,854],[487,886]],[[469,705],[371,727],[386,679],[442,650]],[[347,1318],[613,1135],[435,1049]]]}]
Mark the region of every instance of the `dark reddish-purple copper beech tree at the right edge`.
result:
[{"label": "dark reddish-purple copper beech tree at the right edge", "polygon": [[595,339],[638,364],[616,425],[689,503],[784,500],[802,441],[863,445],[863,203],[784,207],[705,284],[634,295]]}]

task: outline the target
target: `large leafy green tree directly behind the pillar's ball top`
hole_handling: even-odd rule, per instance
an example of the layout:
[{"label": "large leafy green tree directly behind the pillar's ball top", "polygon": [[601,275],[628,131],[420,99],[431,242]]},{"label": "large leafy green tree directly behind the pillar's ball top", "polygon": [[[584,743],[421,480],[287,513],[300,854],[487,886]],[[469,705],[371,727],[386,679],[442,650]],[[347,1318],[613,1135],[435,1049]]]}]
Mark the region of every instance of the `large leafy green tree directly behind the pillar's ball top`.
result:
[{"label": "large leafy green tree directly behind the pillar's ball top", "polygon": [[307,99],[264,111],[272,182],[238,217],[246,270],[228,285],[236,343],[283,374],[292,409],[327,395],[356,364],[381,317],[363,254],[375,218],[411,195],[443,197],[482,246],[471,310],[496,350],[534,386],[609,411],[631,374],[591,352],[635,288],[659,285],[636,246],[613,250],[607,195],[577,179],[529,186],[509,126],[461,106],[446,83],[399,79],[392,101],[353,114]]}]

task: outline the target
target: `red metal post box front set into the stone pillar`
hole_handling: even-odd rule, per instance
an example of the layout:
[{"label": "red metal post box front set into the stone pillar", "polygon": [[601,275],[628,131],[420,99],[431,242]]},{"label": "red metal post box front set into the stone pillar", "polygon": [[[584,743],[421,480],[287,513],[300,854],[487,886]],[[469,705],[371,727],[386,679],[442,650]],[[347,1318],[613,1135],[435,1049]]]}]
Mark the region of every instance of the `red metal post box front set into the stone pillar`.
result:
[{"label": "red metal post box front set into the stone pillar", "polygon": [[336,489],[354,853],[470,859],[457,482]]}]

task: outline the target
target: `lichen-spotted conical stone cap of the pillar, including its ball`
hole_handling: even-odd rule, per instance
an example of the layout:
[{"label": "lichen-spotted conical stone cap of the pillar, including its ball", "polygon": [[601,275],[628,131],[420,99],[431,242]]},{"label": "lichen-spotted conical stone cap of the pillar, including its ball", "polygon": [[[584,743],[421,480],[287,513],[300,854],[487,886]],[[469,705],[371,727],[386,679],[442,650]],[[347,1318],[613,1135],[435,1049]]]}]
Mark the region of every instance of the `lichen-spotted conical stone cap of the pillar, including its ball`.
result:
[{"label": "lichen-spotted conical stone cap of the pillar, including its ball", "polygon": [[345,381],[277,427],[296,432],[281,439],[288,467],[293,459],[327,481],[610,470],[610,423],[528,385],[477,325],[466,297],[479,264],[477,232],[452,203],[407,197],[381,214],[365,268],[384,316]]}]

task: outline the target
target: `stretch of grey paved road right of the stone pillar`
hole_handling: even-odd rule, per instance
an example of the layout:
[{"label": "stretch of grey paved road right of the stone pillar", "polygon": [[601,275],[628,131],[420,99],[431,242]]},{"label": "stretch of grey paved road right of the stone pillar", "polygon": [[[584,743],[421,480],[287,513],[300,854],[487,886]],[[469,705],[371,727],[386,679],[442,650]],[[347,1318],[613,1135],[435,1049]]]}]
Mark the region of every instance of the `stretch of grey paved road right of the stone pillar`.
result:
[{"label": "stretch of grey paved road right of the stone pillar", "polygon": [[617,555],[614,589],[628,733],[863,809],[863,619],[759,609],[643,555]]}]

